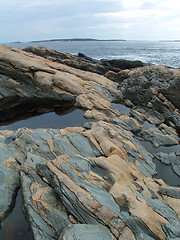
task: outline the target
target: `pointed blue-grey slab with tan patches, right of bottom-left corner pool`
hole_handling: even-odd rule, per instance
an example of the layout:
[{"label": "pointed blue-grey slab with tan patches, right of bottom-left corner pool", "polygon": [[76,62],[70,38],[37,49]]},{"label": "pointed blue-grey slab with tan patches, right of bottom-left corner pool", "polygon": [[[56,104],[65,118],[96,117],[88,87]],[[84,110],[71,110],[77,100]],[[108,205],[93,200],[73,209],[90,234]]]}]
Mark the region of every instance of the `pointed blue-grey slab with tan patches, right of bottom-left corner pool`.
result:
[{"label": "pointed blue-grey slab with tan patches, right of bottom-left corner pool", "polygon": [[71,225],[60,198],[36,172],[28,166],[21,173],[25,213],[34,240],[55,240],[60,232]]}]

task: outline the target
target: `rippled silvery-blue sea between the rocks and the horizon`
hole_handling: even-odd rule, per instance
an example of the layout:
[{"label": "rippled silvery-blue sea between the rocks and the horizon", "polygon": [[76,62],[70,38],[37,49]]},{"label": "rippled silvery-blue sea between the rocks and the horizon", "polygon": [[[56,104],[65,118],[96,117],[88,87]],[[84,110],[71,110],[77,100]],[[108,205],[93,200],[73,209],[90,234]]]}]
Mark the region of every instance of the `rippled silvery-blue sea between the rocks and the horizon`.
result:
[{"label": "rippled silvery-blue sea between the rocks and the horizon", "polygon": [[180,68],[180,41],[42,41],[5,44],[12,47],[44,46],[57,51],[100,59],[140,60]]}]

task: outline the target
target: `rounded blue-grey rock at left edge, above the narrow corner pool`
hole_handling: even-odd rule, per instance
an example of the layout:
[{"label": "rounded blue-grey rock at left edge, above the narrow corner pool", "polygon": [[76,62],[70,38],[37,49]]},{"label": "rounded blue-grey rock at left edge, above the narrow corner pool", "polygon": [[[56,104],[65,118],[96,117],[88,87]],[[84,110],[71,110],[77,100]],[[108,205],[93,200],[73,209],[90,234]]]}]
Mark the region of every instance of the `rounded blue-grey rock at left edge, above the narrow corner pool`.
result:
[{"label": "rounded blue-grey rock at left edge, above the narrow corner pool", "polygon": [[0,134],[0,222],[12,210],[19,188],[19,167],[16,158],[21,156],[21,150],[14,146],[9,147],[11,137],[11,131]]}]

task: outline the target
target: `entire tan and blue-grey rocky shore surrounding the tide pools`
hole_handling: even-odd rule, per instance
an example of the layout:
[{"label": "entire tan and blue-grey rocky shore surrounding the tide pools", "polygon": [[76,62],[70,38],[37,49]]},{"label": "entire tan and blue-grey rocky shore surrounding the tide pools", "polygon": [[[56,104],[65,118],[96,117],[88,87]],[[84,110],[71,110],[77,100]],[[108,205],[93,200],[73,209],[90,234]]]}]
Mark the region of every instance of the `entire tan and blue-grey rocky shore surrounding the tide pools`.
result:
[{"label": "entire tan and blue-grey rocky shore surrounding the tide pools", "polygon": [[179,239],[179,83],[167,66],[0,45],[1,125],[72,108],[87,119],[0,131],[0,221],[21,189],[35,240]]}]

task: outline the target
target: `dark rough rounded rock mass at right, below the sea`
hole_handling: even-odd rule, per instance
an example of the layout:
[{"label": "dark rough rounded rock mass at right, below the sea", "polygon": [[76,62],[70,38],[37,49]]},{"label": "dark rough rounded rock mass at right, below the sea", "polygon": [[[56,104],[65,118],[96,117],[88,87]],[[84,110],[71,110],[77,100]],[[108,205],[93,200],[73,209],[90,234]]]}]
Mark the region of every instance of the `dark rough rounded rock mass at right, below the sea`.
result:
[{"label": "dark rough rounded rock mass at right, below the sea", "polygon": [[[125,71],[125,72],[124,72]],[[120,83],[119,88],[122,91],[122,98],[130,99],[134,105],[145,106],[145,113],[151,117],[159,118],[166,124],[175,125],[179,128],[179,113],[175,110],[174,101],[170,102],[163,91],[172,88],[174,82],[179,82],[179,69],[173,69],[165,66],[148,66],[137,68],[135,70],[120,72],[126,76]],[[174,99],[178,101],[177,94]],[[163,120],[164,118],[164,120]]]}]

